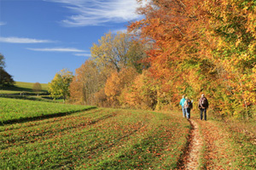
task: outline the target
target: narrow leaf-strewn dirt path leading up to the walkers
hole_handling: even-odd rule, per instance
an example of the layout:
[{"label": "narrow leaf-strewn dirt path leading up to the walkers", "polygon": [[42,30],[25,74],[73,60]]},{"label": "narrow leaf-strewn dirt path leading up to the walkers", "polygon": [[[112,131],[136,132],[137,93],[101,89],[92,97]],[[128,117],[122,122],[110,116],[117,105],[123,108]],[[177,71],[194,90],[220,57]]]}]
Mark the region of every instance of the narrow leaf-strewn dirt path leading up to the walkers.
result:
[{"label": "narrow leaf-strewn dirt path leading up to the walkers", "polygon": [[193,119],[190,119],[189,122],[192,125],[192,133],[190,136],[189,149],[184,156],[183,169],[195,170],[199,167],[203,139],[201,138],[199,125]]}]

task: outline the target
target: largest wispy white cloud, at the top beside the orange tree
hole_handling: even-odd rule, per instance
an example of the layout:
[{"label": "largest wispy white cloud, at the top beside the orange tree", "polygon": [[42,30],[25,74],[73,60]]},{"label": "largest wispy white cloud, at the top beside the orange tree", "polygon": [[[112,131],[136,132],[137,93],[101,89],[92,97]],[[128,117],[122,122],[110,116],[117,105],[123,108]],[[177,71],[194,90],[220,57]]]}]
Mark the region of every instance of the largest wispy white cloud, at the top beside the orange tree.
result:
[{"label": "largest wispy white cloud, at the top beside the orange tree", "polygon": [[136,0],[45,0],[64,3],[74,15],[62,20],[64,26],[102,26],[107,22],[126,22],[137,20]]}]

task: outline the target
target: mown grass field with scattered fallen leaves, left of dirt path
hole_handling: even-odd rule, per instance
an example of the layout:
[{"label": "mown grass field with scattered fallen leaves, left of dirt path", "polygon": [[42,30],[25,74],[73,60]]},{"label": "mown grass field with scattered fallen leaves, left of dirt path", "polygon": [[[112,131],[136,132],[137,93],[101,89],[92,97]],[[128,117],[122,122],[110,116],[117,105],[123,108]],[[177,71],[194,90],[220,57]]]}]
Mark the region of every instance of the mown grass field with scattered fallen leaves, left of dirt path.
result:
[{"label": "mown grass field with scattered fallen leaves, left of dirt path", "polygon": [[189,131],[178,114],[101,108],[5,124],[0,169],[173,169]]}]

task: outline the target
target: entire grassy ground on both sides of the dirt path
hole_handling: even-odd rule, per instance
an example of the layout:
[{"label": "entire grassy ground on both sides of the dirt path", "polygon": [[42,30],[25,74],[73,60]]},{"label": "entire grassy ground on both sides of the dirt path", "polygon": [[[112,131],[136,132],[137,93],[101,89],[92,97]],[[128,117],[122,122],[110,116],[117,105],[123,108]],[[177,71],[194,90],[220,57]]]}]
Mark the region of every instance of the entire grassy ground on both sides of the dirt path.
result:
[{"label": "entire grassy ground on both sides of the dirt path", "polygon": [[[6,98],[0,98],[0,108],[0,169],[4,170],[177,169],[193,130],[175,111]],[[203,139],[199,169],[255,169],[255,121],[208,117],[201,121],[192,112]]]}]

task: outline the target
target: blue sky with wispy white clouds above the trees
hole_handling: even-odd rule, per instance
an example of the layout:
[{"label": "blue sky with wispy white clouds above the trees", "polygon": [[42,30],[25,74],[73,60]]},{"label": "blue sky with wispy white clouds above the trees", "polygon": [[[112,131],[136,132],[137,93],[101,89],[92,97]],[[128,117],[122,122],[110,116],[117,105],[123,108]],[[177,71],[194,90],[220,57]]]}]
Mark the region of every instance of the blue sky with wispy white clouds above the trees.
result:
[{"label": "blue sky with wispy white clouds above the trees", "polygon": [[15,82],[75,74],[93,43],[141,20],[136,0],[0,0],[0,54]]}]

